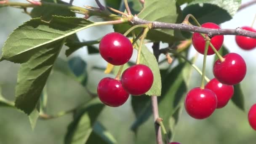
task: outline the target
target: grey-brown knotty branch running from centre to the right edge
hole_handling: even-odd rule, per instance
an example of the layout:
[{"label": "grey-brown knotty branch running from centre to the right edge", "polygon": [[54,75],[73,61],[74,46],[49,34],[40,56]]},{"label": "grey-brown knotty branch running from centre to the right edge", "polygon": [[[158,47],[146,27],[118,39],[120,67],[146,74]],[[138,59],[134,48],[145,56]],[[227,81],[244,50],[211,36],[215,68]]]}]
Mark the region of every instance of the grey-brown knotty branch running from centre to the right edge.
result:
[{"label": "grey-brown knotty branch running from centre to the right edge", "polygon": [[179,29],[182,31],[187,32],[199,32],[203,34],[208,34],[209,37],[213,37],[214,35],[242,35],[246,37],[253,37],[256,38],[256,32],[247,31],[241,29],[240,27],[236,29],[209,29],[204,27],[197,27],[188,24],[171,24],[171,23],[164,23],[159,21],[146,21],[143,19],[134,16],[131,20],[133,25],[136,24],[152,24],[153,29]]}]

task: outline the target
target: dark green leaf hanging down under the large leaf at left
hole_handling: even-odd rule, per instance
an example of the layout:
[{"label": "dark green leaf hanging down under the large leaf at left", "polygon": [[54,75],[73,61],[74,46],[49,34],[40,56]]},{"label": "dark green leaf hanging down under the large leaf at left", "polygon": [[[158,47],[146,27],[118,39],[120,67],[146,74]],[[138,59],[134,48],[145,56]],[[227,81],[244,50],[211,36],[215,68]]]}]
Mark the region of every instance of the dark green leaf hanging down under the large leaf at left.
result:
[{"label": "dark green leaf hanging down under the large leaf at left", "polygon": [[65,40],[61,41],[62,43],[56,41],[40,46],[40,51],[34,53],[26,63],[21,64],[15,92],[15,107],[28,115],[35,109],[53,63]]}]

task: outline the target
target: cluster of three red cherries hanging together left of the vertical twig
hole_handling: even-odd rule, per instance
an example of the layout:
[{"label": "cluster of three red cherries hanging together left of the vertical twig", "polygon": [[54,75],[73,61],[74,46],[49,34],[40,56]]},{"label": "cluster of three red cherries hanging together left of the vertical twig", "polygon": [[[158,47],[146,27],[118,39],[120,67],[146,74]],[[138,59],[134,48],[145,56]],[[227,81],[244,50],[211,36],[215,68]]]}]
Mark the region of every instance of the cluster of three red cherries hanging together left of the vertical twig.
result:
[{"label": "cluster of three red cherries hanging together left of the vertical twig", "polygon": [[[127,63],[133,54],[131,41],[118,32],[105,35],[99,43],[99,52],[104,60],[115,66]],[[129,95],[139,96],[152,87],[153,73],[144,64],[133,65],[115,78],[103,78],[97,87],[99,99],[110,107],[119,107]]]}]

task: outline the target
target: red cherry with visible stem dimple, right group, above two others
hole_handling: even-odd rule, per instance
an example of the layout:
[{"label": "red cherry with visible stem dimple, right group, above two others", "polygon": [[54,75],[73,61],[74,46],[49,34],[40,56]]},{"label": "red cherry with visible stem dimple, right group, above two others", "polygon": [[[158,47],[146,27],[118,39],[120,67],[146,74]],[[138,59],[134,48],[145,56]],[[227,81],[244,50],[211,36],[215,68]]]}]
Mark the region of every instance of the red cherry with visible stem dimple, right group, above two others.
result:
[{"label": "red cherry with visible stem dimple, right group, above two others", "polygon": [[242,56],[228,53],[223,58],[225,59],[223,62],[218,59],[213,65],[214,77],[226,85],[240,83],[246,74],[246,64]]}]

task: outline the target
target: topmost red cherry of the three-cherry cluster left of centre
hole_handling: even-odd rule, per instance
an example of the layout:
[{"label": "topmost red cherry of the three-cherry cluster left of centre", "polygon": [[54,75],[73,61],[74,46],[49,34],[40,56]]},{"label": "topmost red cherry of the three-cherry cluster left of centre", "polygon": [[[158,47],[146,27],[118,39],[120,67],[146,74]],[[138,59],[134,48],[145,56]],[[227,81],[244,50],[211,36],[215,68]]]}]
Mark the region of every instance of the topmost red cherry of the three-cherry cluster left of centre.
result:
[{"label": "topmost red cherry of the three-cherry cluster left of centre", "polygon": [[131,41],[118,32],[111,32],[102,37],[99,52],[103,59],[113,65],[125,64],[133,54]]}]

